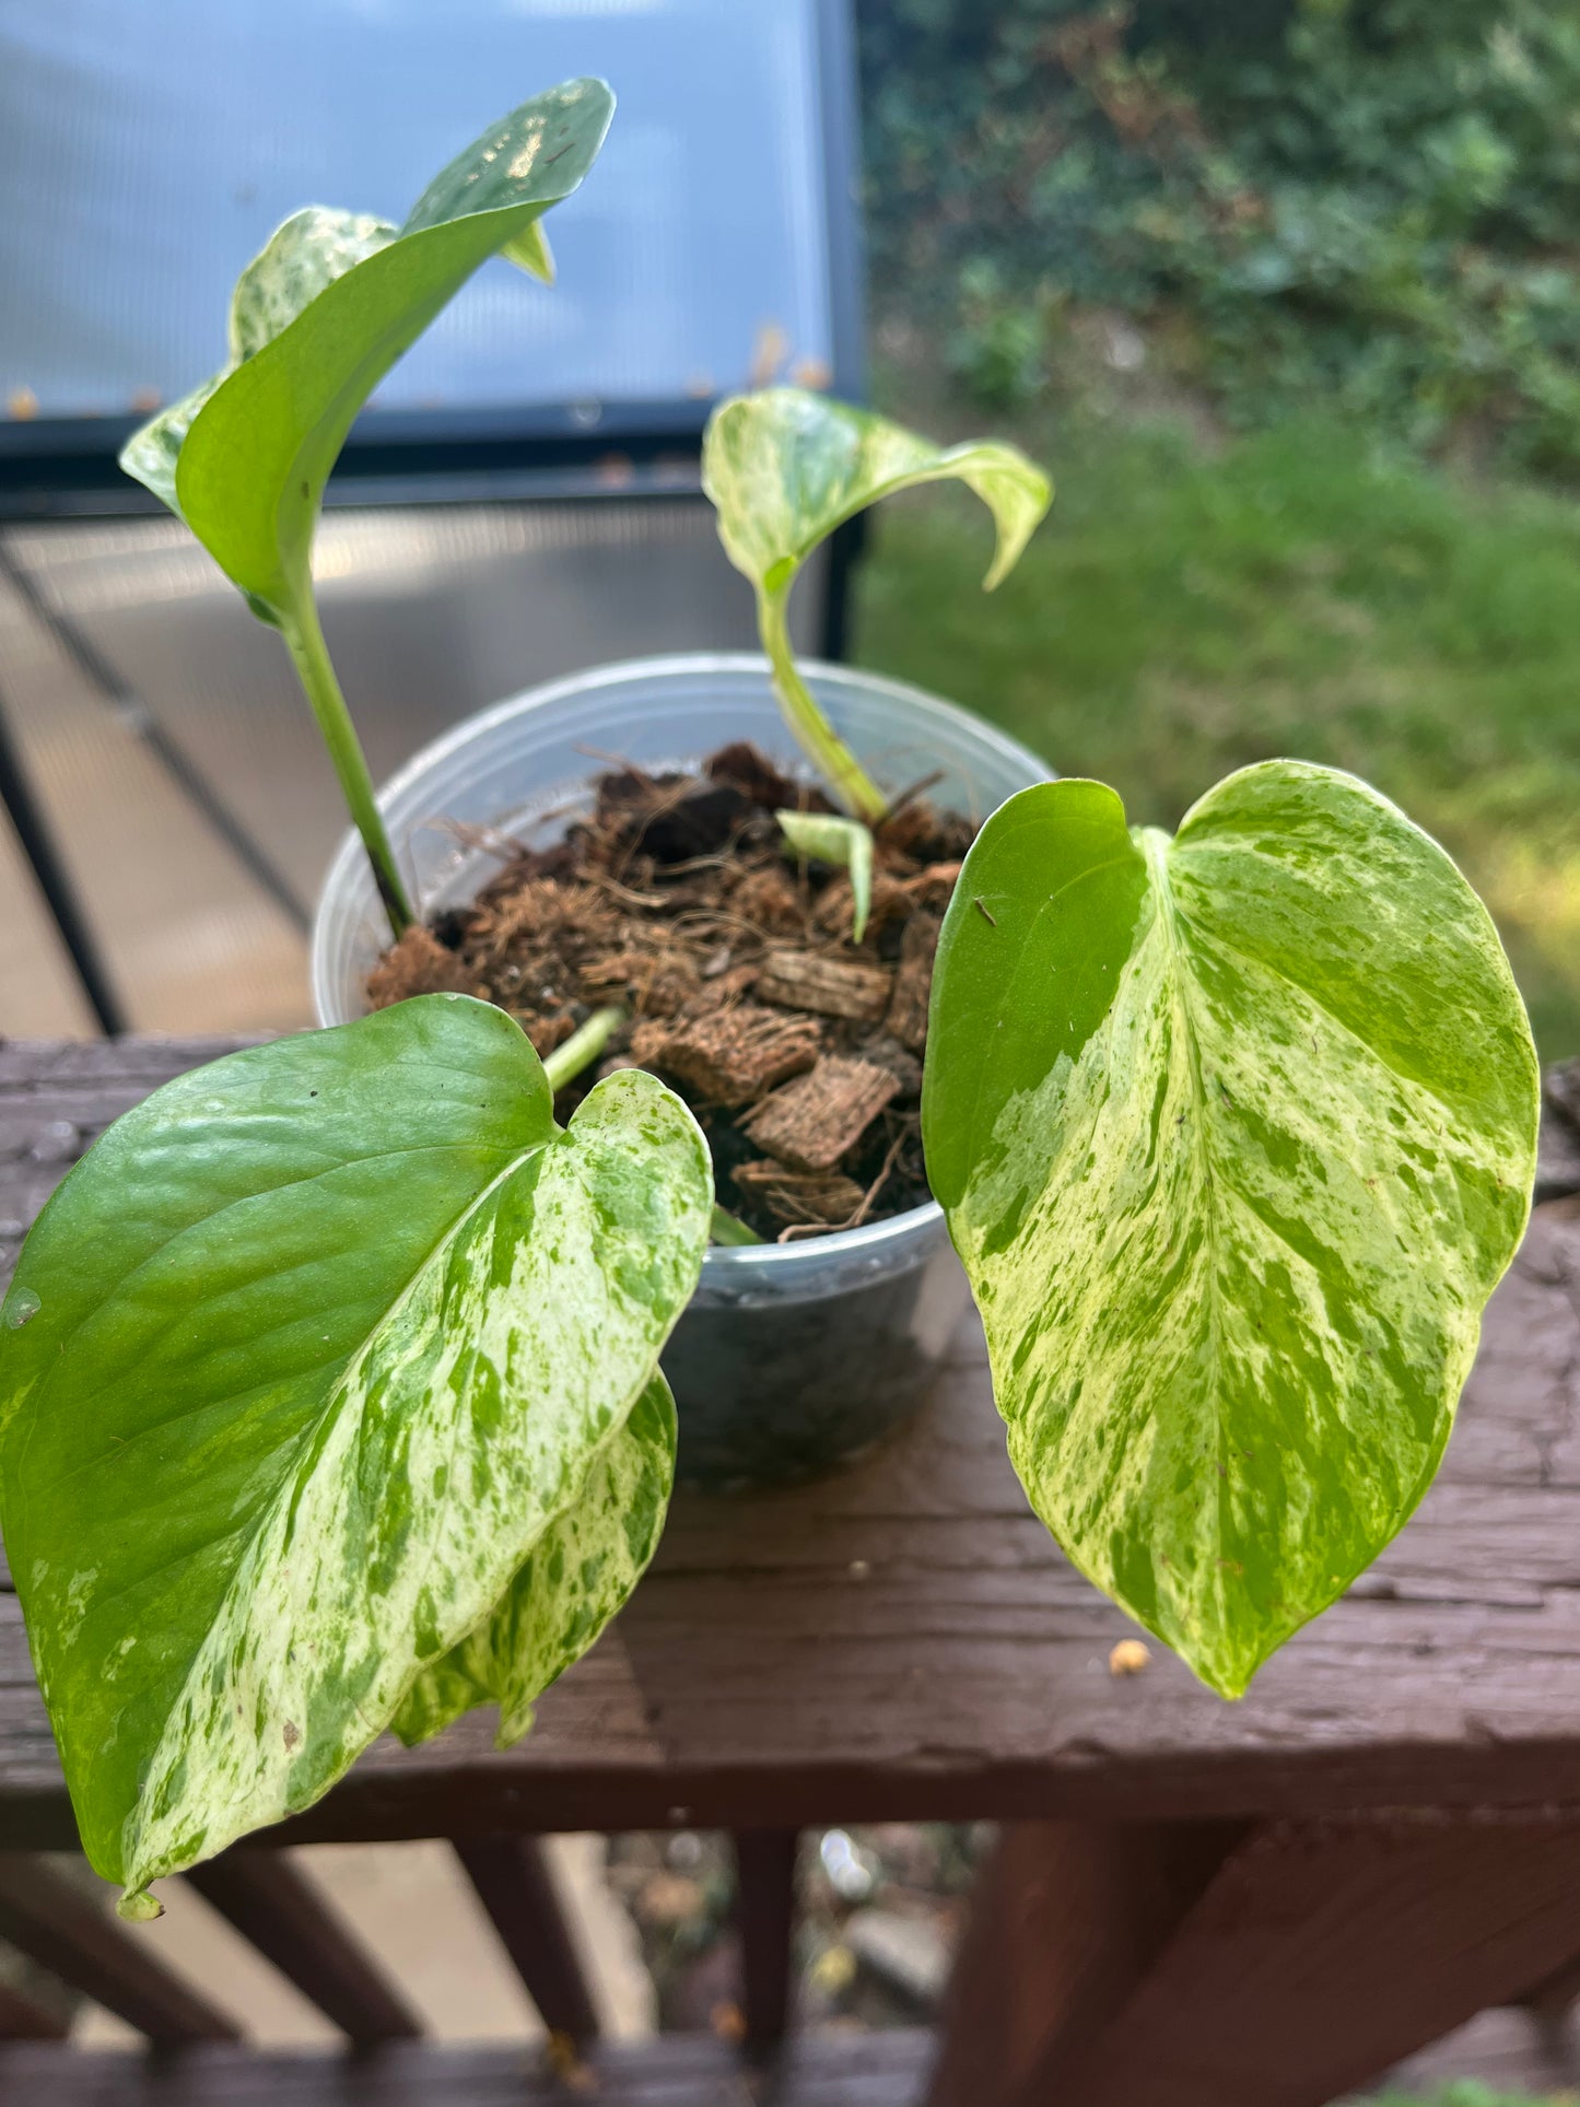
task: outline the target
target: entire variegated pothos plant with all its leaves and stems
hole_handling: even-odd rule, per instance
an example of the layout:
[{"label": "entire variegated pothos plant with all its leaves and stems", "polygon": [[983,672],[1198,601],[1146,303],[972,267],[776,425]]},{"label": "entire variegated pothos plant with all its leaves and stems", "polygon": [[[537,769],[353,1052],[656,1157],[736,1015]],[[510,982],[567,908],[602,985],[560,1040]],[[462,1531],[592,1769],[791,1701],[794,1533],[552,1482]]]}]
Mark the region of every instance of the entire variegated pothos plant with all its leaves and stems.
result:
[{"label": "entire variegated pothos plant with all its leaves and stems", "polygon": [[[402,228],[295,215],[232,360],[126,468],[278,626],[392,927],[400,870],[318,630],[312,537],[356,409],[590,166],[569,82]],[[1018,558],[1049,487],[819,396],[725,402],[704,480],[786,721],[868,870],[887,799],[796,674],[786,600],[845,518],[946,476]],[[895,786],[904,788],[904,786]],[[150,1882],[312,1804],[386,1728],[501,1740],[657,1540],[657,1361],[710,1233],[657,1079],[567,1129],[499,1009],[423,997],[177,1079],[65,1178],[0,1323],[0,1519],[95,1867]],[[1074,1563],[1237,1696],[1401,1528],[1525,1224],[1536,1058],[1483,906],[1386,799],[1262,763],[1171,839],[1093,782],[977,834],[937,952],[927,1169],[1026,1492]]]}]

